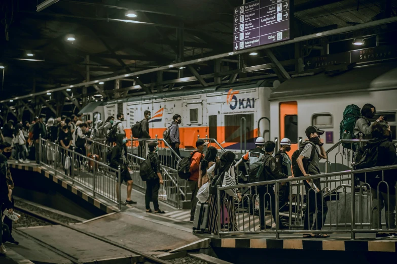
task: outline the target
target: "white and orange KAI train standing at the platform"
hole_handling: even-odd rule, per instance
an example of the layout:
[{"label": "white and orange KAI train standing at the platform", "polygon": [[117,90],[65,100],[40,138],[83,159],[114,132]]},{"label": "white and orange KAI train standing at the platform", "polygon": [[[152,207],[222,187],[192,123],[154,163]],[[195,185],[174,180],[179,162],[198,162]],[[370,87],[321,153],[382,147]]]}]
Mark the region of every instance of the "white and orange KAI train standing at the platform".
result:
[{"label": "white and orange KAI train standing at the platform", "polygon": [[292,155],[306,140],[309,125],[326,131],[321,140],[327,150],[338,142],[339,123],[350,104],[373,104],[376,115],[371,121],[385,116],[395,139],[397,63],[357,64],[341,69],[297,74],[285,81],[269,78],[92,102],[81,113],[95,123],[122,112],[126,135],[130,137],[130,127],[150,110],[151,138],[162,138],[172,116],[179,114],[182,156],[191,153],[198,137],[215,139],[224,149],[235,152],[237,158],[255,147],[257,137],[276,142],[286,137],[292,141]]}]

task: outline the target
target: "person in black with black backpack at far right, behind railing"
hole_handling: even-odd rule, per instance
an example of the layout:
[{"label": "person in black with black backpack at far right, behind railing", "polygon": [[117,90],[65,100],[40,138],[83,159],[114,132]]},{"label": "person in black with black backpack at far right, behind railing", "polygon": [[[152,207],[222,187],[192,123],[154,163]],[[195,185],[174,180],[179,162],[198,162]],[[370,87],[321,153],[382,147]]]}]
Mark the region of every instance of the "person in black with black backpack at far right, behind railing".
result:
[{"label": "person in black with black backpack at far right, behind railing", "polygon": [[[371,136],[372,140],[369,140],[363,149],[360,149],[358,153],[365,151],[365,149],[372,149],[378,147],[378,158],[375,166],[387,166],[397,164],[397,156],[395,153],[395,146],[392,143],[392,135],[390,125],[384,120],[376,120],[371,125]],[[371,186],[371,199],[372,199],[372,228],[381,229],[381,212],[385,208],[386,228],[395,229],[395,183],[397,179],[397,169],[385,170],[383,173],[384,181],[382,182],[382,171],[375,171],[367,173],[367,183]],[[380,183],[380,184],[379,184]],[[379,184],[379,192],[378,192]],[[387,190],[388,189],[388,190]],[[389,196],[387,197],[387,194]],[[379,204],[379,208],[378,208]],[[378,233],[376,239],[382,239],[386,237],[394,237],[393,234]]]}]

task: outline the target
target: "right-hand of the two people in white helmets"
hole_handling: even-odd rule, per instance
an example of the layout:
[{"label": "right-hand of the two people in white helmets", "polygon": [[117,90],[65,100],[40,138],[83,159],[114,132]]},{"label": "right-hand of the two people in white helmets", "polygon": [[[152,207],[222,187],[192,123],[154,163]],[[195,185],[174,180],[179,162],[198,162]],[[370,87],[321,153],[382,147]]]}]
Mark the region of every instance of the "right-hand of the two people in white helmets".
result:
[{"label": "right-hand of the two people in white helmets", "polygon": [[[289,151],[291,151],[291,140],[284,138],[281,140],[280,149],[277,151],[276,155],[274,155],[274,158],[276,159],[278,170],[284,174],[287,174],[288,176],[291,176],[292,161],[290,156],[286,154]],[[286,210],[287,207],[283,206],[287,204],[290,197],[290,183],[280,184],[278,190],[279,208],[280,210]]]}]

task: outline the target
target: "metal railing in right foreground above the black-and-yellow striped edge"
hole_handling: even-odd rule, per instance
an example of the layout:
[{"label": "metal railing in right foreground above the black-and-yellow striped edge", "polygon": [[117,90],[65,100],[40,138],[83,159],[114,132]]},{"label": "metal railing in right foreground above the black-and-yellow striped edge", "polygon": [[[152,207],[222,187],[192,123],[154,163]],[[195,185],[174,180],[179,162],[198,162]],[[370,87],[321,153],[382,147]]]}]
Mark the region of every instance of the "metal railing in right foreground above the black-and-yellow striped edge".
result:
[{"label": "metal railing in right foreground above the black-and-yellow striped edge", "polygon": [[[235,223],[234,225],[224,224],[221,221],[222,217],[218,217],[216,225],[218,225],[219,235],[265,232],[274,233],[276,238],[279,238],[280,234],[291,233],[350,233],[351,239],[355,239],[356,233],[396,233],[394,211],[397,211],[397,196],[394,188],[397,188],[397,184],[393,178],[396,171],[397,165],[391,165],[318,174],[305,178],[230,187],[219,186],[216,207],[218,215],[221,215],[221,211],[225,211],[222,208],[226,207],[231,219],[230,223]],[[354,184],[356,176],[362,180],[357,187],[358,191]],[[338,179],[335,180],[335,177]],[[311,181],[314,185],[309,185],[306,180]],[[342,190],[338,195],[335,195],[335,190],[327,187],[330,182],[335,181],[343,183],[336,188]],[[290,186],[304,186],[306,190],[305,193],[291,195],[289,202],[294,210],[290,209],[289,215],[285,213],[290,218],[290,225],[286,229],[281,229],[281,227],[284,228],[282,221],[285,218],[285,214],[280,212],[279,188],[281,183],[289,183]],[[321,185],[324,187],[320,188]],[[241,201],[237,195],[228,196],[225,192],[228,189],[236,188],[249,188],[249,192],[242,196]],[[238,205],[227,208],[226,205],[230,200],[235,201],[235,204]],[[259,216],[256,216],[250,211],[258,207],[256,205],[258,200],[260,213]],[[386,211],[382,215],[383,208],[386,208]],[[301,218],[296,222],[291,221],[296,214],[304,214],[303,220]]]}]

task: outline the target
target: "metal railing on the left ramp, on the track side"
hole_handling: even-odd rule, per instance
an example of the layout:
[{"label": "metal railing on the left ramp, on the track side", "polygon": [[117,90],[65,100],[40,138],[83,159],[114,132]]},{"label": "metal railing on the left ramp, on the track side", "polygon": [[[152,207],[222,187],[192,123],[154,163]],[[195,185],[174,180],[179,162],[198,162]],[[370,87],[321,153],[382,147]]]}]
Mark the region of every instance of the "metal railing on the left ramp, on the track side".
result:
[{"label": "metal railing on the left ramp, on the track side", "polygon": [[53,142],[40,138],[40,164],[54,170],[55,174],[114,202],[121,210],[120,167],[112,168],[94,158],[89,158]]}]

